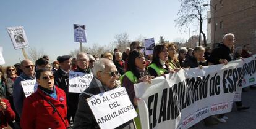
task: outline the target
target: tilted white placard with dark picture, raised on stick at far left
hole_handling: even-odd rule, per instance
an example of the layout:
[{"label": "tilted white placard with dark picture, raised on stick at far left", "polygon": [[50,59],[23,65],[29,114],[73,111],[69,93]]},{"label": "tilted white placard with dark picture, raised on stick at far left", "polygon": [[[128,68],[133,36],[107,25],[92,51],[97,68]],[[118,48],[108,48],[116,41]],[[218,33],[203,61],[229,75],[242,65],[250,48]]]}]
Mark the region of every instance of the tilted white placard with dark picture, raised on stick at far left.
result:
[{"label": "tilted white placard with dark picture, raised on stick at far left", "polygon": [[23,29],[23,26],[8,27],[6,28],[9,36],[11,38],[14,49],[22,49],[24,47],[29,47],[28,39]]}]

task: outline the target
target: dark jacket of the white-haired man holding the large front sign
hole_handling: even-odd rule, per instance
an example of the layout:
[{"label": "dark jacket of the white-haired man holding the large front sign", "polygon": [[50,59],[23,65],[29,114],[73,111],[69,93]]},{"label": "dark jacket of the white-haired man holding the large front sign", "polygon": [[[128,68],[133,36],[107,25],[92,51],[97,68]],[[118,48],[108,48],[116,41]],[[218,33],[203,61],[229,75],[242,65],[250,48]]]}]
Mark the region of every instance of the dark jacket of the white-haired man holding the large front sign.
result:
[{"label": "dark jacket of the white-haired man holding the large front sign", "polygon": [[[87,98],[90,98],[92,95],[97,95],[99,93],[106,92],[108,89],[105,85],[102,85],[100,80],[93,77],[90,86],[79,96],[79,104],[77,112],[75,114],[75,122],[73,128],[100,128],[96,119],[93,115],[90,106],[87,103]],[[117,128],[135,128],[133,120],[130,120]]]}]

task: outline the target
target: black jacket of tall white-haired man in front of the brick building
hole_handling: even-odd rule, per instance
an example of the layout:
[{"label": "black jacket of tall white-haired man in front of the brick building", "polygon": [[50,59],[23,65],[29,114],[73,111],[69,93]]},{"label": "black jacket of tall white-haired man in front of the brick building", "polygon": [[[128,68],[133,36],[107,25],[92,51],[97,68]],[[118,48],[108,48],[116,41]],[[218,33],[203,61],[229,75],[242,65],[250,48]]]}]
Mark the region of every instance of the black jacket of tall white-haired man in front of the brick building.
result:
[{"label": "black jacket of tall white-haired man in front of the brick building", "polygon": [[213,52],[211,52],[210,57],[208,58],[208,62],[213,63],[214,65],[220,64],[220,59],[226,59],[229,61],[233,61],[233,56],[231,54],[231,50],[226,47],[224,44],[218,45]]}]

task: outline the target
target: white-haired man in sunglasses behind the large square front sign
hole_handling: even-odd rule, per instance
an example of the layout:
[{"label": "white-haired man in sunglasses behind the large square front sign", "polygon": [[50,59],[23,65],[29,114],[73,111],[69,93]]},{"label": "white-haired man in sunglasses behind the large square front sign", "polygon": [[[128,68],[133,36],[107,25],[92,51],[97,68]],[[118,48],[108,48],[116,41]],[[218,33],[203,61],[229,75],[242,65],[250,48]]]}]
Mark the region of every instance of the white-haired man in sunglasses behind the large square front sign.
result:
[{"label": "white-haired man in sunglasses behind the large square front sign", "polygon": [[[116,80],[119,72],[113,61],[101,58],[95,62],[92,71],[94,75],[92,82],[79,97],[74,128],[100,128],[87,103],[87,98],[120,87]],[[130,120],[117,128],[132,129],[135,126],[133,120]]]}]

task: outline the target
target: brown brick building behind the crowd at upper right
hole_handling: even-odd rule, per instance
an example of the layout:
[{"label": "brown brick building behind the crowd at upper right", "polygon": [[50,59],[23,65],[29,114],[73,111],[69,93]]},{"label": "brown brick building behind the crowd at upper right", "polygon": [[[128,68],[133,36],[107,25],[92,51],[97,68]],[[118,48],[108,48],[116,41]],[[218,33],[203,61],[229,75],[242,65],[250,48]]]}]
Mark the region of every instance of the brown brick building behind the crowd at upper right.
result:
[{"label": "brown brick building behind the crowd at upper right", "polygon": [[[235,47],[250,44],[256,53],[256,0],[211,0],[211,42],[221,42],[224,34],[235,35]],[[215,47],[216,44],[213,44]]]}]

